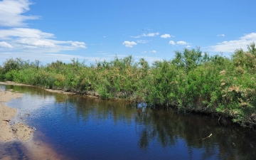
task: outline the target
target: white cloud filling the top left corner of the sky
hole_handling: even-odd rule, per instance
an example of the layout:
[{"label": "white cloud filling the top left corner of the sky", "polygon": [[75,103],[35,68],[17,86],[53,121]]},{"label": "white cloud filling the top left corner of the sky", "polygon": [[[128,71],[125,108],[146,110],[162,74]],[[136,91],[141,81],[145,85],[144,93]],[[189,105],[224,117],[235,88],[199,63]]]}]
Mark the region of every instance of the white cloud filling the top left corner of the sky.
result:
[{"label": "white cloud filling the top left corner of the sky", "polygon": [[31,2],[28,0],[0,1],[0,26],[27,26],[24,21],[37,19],[38,16],[21,15],[29,11],[29,5],[31,5]]}]

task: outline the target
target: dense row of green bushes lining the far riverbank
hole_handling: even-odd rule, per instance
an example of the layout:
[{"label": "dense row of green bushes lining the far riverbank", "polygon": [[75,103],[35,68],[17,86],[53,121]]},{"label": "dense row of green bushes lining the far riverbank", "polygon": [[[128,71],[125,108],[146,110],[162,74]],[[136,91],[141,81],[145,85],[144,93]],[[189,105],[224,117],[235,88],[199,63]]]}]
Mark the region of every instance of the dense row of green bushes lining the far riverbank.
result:
[{"label": "dense row of green bushes lining the far riverbank", "polygon": [[5,80],[102,97],[146,102],[151,106],[207,112],[232,117],[242,125],[256,124],[256,51],[235,50],[231,58],[210,56],[200,48],[176,51],[173,60],[151,66],[132,56],[87,66],[60,60],[46,66],[8,59],[0,67]]}]

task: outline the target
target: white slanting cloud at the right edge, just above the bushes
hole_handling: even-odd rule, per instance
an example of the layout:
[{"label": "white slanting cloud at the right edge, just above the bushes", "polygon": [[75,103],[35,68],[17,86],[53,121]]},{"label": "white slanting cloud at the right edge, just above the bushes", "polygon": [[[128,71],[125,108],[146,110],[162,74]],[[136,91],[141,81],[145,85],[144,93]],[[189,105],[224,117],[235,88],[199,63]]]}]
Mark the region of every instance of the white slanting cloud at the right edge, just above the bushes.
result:
[{"label": "white slanting cloud at the right edge, just above the bushes", "polygon": [[215,46],[210,46],[210,51],[234,52],[239,48],[246,50],[247,45],[250,45],[250,43],[252,42],[256,42],[256,33],[245,34],[237,40],[223,41],[221,43],[217,43]]}]

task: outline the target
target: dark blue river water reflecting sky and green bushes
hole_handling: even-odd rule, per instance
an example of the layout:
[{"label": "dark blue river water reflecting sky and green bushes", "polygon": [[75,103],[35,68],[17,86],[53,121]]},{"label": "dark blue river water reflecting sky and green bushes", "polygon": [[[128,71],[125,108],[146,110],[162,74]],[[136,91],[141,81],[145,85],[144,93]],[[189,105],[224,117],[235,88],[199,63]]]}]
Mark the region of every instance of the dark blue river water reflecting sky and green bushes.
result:
[{"label": "dark blue river water reflecting sky and green bushes", "polygon": [[[24,93],[6,105],[18,109],[16,120],[27,115],[22,120],[36,127],[33,139],[41,139],[65,159],[256,157],[256,132],[223,118],[138,108],[125,102],[51,93],[36,87],[0,87]],[[7,154],[15,150],[17,159],[28,159],[19,149],[19,142],[8,145]]]}]

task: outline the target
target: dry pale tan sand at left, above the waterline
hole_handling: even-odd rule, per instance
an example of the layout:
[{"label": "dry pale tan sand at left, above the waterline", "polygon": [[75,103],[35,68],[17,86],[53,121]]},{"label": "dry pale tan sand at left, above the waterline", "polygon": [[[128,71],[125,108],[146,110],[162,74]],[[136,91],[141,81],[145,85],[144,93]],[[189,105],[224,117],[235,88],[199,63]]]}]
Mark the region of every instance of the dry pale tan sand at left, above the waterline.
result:
[{"label": "dry pale tan sand at left, above the waterline", "polygon": [[26,126],[26,124],[20,122],[14,122],[14,125],[10,125],[10,121],[16,116],[17,110],[11,107],[7,107],[4,102],[18,97],[22,97],[23,94],[15,93],[11,91],[0,91],[0,141],[9,142],[14,138],[26,142],[30,139],[33,129]]}]

